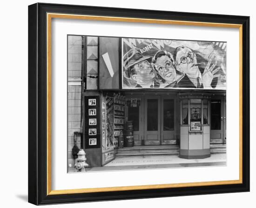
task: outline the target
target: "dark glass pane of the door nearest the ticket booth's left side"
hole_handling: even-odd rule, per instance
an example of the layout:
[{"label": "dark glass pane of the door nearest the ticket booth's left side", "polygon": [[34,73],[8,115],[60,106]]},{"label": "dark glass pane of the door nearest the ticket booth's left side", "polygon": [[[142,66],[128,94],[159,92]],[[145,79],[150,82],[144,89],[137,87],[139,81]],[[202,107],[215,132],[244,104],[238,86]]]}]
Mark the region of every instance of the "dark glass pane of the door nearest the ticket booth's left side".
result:
[{"label": "dark glass pane of the door nearest the ticket booth's left side", "polygon": [[163,100],[163,130],[174,130],[174,100]]}]

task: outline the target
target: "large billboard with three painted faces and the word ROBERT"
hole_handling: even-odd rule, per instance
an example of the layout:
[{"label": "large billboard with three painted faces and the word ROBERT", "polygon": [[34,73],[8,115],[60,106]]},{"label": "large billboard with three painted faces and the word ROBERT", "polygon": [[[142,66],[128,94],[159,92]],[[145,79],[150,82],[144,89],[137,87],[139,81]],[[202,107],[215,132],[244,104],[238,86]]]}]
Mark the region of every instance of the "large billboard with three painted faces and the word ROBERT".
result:
[{"label": "large billboard with three painted faces and the word ROBERT", "polygon": [[122,88],[226,90],[226,42],[122,38]]}]

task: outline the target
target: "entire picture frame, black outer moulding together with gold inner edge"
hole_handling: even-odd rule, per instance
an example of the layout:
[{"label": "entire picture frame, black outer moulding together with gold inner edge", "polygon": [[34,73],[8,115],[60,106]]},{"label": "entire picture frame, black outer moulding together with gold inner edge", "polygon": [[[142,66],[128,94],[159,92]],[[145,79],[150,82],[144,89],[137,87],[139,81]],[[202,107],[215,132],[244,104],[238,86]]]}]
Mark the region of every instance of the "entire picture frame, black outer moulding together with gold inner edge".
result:
[{"label": "entire picture frame, black outer moulding together with gold inner edge", "polygon": [[[110,20],[239,28],[240,178],[98,189],[52,190],[51,179],[51,20]],[[28,202],[35,205],[125,200],[249,191],[249,17],[36,3],[28,7]]]}]

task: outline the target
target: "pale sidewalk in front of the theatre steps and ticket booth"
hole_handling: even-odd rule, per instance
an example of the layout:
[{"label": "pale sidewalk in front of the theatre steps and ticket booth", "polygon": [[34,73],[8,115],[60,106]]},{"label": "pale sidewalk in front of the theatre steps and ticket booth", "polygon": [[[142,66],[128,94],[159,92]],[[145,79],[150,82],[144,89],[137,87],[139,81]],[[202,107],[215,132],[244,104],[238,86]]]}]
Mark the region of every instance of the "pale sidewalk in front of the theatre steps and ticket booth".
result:
[{"label": "pale sidewalk in front of the theatre steps and ticket booth", "polygon": [[[226,153],[211,154],[205,159],[182,159],[179,156],[124,156],[117,157],[103,167],[88,168],[87,171],[162,169],[226,165]],[[74,172],[69,169],[68,172]]]}]

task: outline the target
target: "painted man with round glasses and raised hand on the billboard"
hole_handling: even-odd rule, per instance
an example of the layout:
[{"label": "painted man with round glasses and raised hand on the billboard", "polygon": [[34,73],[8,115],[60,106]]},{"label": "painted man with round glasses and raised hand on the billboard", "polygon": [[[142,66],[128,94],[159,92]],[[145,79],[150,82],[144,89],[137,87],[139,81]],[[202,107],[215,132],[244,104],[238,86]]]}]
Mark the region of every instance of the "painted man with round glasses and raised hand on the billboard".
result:
[{"label": "painted man with round glasses and raised hand on the billboard", "polygon": [[219,67],[216,70],[214,70],[216,66],[215,64],[211,65],[210,67],[211,59],[201,74],[198,65],[205,63],[198,64],[195,53],[189,47],[179,46],[175,49],[173,55],[175,59],[176,70],[185,74],[184,77],[175,84],[175,87],[206,89],[212,88],[211,83],[213,78],[219,76],[215,75],[219,70]]}]

